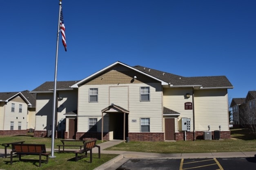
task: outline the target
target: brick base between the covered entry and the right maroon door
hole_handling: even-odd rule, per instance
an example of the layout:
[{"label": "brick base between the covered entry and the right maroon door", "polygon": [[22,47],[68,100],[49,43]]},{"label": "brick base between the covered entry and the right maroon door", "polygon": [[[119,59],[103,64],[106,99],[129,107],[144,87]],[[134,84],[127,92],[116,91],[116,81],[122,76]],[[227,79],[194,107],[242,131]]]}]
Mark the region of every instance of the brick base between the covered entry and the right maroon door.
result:
[{"label": "brick base between the covered entry and the right maroon door", "polygon": [[165,133],[128,133],[130,141],[164,141]]}]

